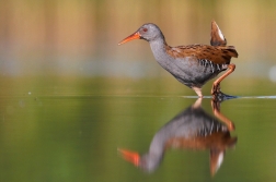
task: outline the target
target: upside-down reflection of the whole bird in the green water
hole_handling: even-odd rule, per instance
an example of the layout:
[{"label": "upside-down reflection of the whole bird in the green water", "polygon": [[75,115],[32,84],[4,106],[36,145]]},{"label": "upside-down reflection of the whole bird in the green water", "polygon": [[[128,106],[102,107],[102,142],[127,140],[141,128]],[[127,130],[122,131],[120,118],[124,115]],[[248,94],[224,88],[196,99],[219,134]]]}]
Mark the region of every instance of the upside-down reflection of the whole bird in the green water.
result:
[{"label": "upside-down reflection of the whole bird in the green water", "polygon": [[136,151],[118,149],[127,161],[148,171],[154,171],[169,148],[187,148],[210,150],[210,173],[215,174],[222,163],[227,148],[234,146],[237,137],[231,137],[233,123],[219,111],[219,102],[211,101],[216,118],[202,108],[202,99],[174,117],[154,135],[148,153],[139,155]]}]

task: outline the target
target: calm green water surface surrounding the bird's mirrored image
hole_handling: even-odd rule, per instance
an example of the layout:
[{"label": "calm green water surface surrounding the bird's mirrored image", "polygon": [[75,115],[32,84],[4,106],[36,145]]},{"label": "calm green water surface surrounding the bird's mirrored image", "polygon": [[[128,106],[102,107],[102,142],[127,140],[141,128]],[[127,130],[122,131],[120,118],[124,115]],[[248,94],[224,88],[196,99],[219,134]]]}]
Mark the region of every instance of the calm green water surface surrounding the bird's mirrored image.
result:
[{"label": "calm green water surface surrounding the bird's mirrored image", "polygon": [[[159,130],[195,104],[193,92],[181,94],[189,90],[176,82],[164,88],[169,82],[1,81],[0,181],[276,180],[276,89],[269,82],[246,83],[242,90],[222,87],[240,96],[220,105],[220,113],[235,126],[230,135],[238,139],[226,147],[221,165],[211,174],[210,148],[169,147],[151,171],[135,167],[117,150],[147,153]],[[202,109],[221,121],[209,97],[203,99]]]}]

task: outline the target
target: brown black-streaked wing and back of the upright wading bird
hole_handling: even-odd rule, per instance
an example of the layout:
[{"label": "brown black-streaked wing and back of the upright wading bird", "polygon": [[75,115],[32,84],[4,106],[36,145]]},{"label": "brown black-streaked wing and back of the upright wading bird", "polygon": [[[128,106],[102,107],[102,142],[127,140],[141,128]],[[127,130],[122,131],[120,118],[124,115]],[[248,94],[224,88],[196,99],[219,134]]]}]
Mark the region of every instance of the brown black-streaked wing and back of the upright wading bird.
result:
[{"label": "brown black-streaked wing and back of the upright wading bird", "polygon": [[165,50],[173,58],[195,57],[199,60],[207,59],[216,64],[228,64],[232,57],[238,58],[238,52],[233,46],[189,45],[170,47],[166,45]]}]

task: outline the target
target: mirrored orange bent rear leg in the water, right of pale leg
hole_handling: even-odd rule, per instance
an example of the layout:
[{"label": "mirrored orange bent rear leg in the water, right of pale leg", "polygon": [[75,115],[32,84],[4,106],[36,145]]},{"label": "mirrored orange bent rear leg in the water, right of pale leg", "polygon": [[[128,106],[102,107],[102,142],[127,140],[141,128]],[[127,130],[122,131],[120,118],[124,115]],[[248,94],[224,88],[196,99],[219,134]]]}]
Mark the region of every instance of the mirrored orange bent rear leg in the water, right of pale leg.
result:
[{"label": "mirrored orange bent rear leg in the water, right of pale leg", "polygon": [[211,100],[211,108],[215,117],[221,120],[223,123],[226,123],[229,131],[233,131],[234,130],[233,122],[220,112],[220,102]]}]

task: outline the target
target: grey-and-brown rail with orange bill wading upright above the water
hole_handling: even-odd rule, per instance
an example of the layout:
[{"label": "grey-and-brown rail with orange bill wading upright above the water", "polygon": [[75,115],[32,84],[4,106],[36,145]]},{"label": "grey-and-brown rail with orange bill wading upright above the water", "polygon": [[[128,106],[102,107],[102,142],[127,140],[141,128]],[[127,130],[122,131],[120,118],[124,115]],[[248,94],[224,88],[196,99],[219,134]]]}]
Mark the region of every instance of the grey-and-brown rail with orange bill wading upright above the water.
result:
[{"label": "grey-and-brown rail with orange bill wading upright above the water", "polygon": [[220,72],[226,71],[212,83],[211,95],[220,93],[220,82],[231,74],[235,64],[231,58],[238,58],[234,46],[226,46],[227,40],[215,21],[211,22],[210,45],[188,45],[171,47],[158,25],[146,23],[118,45],[134,39],[149,43],[157,62],[179,82],[194,89],[203,98],[202,87]]}]

